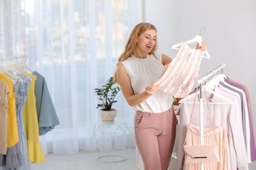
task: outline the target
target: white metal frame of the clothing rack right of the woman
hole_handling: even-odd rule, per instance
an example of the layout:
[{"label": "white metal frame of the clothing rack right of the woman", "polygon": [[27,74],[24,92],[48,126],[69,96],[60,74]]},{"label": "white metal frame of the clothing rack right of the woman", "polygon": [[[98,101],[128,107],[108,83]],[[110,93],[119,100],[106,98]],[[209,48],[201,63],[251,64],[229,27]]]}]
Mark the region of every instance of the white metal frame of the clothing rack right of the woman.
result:
[{"label": "white metal frame of the clothing rack right of the woman", "polygon": [[[213,69],[212,71],[210,71],[209,73],[207,73],[207,75],[203,76],[202,78],[200,78],[198,80],[198,84],[200,84],[200,144],[203,144],[203,88],[202,88],[202,83],[208,82],[210,78],[213,78],[213,76],[216,76],[217,74],[219,74],[219,71],[221,71],[221,73],[224,73],[224,67],[226,65],[223,63],[221,65],[219,65],[219,67],[217,67],[216,69]],[[203,163],[201,163],[201,170],[203,170]]]}]

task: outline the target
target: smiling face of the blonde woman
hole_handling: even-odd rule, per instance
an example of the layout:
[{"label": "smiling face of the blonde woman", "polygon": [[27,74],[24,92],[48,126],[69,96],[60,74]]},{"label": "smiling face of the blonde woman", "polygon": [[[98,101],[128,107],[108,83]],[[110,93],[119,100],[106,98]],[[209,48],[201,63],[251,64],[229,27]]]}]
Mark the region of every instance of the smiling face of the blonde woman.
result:
[{"label": "smiling face of the blonde woman", "polygon": [[137,50],[142,53],[150,53],[156,44],[156,31],[147,30],[137,38]]}]

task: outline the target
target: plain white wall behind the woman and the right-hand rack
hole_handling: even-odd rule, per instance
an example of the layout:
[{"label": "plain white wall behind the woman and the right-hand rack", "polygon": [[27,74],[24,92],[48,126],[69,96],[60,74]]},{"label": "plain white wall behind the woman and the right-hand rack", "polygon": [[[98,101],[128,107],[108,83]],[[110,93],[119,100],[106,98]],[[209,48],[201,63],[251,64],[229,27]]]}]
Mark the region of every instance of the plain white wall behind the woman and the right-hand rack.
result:
[{"label": "plain white wall behind the woman and the right-hand rack", "polygon": [[[194,38],[206,27],[202,37],[211,59],[203,59],[200,76],[225,63],[225,75],[249,89],[256,125],[255,9],[254,0],[144,0],[144,22],[158,29],[158,52],[173,58],[173,44]],[[256,161],[249,164],[249,169],[256,169]]]}]

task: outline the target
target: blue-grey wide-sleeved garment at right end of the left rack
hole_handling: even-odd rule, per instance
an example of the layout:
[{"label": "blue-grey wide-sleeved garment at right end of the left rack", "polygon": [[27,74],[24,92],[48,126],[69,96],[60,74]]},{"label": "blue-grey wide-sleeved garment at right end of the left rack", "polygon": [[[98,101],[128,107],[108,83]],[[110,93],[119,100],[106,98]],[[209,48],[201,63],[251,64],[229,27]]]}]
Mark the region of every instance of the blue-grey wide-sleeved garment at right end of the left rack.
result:
[{"label": "blue-grey wide-sleeved garment at right end of the left rack", "polygon": [[45,78],[37,71],[33,71],[32,75],[37,77],[35,81],[35,97],[37,119],[39,125],[39,135],[45,135],[54,129],[54,126],[60,124],[58,116],[49,93]]}]

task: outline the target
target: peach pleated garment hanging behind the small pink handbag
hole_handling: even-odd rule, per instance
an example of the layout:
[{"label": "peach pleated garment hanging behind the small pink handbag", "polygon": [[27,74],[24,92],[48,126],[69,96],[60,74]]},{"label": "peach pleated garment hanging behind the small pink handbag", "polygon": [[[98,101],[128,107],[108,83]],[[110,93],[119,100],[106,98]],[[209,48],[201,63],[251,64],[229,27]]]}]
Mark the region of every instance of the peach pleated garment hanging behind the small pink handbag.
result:
[{"label": "peach pleated garment hanging behind the small pink handbag", "polygon": [[[204,87],[205,88],[205,87]],[[196,95],[194,97],[194,103],[190,115],[190,122],[188,123],[188,127],[186,129],[186,138],[184,140],[184,146],[190,146],[192,147],[193,145],[200,145],[200,127],[196,127],[191,124],[192,120],[192,115],[196,103],[196,99],[198,97],[198,88],[196,90]],[[231,165],[230,165],[230,152],[229,152],[229,144],[228,144],[228,138],[226,135],[226,131],[224,128],[224,124],[221,124],[219,126],[213,127],[213,118],[212,115],[213,113],[210,110],[209,107],[209,102],[205,95],[205,101],[207,103],[207,112],[208,114],[207,117],[207,122],[210,122],[211,127],[210,128],[205,128],[203,127],[203,145],[208,145],[208,146],[216,146],[217,145],[217,154],[216,156],[219,158],[219,161],[214,161],[214,162],[209,162],[209,163],[203,163],[203,167],[205,170],[207,169],[223,169],[223,170],[230,170]],[[228,105],[228,109],[229,109]],[[208,121],[210,120],[210,121]],[[207,124],[208,126],[209,124]],[[186,158],[186,155],[185,155]],[[184,163],[184,169],[201,169],[201,164],[200,163]]]}]

